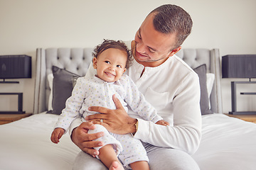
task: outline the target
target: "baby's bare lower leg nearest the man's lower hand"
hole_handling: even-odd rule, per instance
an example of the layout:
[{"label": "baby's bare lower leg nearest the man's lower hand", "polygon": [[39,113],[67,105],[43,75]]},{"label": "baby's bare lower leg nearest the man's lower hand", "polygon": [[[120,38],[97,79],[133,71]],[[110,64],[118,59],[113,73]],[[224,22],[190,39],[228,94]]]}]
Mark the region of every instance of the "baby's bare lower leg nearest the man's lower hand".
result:
[{"label": "baby's bare lower leg nearest the man's lower hand", "polygon": [[105,145],[104,147],[100,148],[99,158],[108,169],[111,170],[123,170],[122,164],[119,162],[117,158],[117,154],[114,151],[112,145]]}]

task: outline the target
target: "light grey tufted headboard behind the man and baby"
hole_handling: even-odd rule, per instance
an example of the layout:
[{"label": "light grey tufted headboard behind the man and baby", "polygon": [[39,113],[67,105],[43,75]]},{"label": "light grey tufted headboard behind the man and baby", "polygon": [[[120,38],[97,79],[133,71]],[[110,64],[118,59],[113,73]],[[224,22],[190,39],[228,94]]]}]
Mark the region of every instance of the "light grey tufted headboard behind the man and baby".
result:
[{"label": "light grey tufted headboard behind the man and baby", "polygon": [[[47,111],[50,95],[47,75],[52,72],[52,66],[65,68],[84,76],[92,61],[92,50],[92,48],[38,48],[36,50],[34,114]],[[214,113],[222,113],[219,50],[181,49],[176,55],[181,57],[191,68],[206,64],[207,72],[215,74],[215,82],[210,94],[210,109]]]}]

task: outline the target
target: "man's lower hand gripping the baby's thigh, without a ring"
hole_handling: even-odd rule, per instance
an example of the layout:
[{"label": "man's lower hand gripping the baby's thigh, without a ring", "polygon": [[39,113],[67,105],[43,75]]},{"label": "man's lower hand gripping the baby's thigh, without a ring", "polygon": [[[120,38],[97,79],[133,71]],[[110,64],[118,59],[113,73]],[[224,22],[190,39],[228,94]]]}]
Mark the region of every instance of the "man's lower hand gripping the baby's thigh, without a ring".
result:
[{"label": "man's lower hand gripping the baby's thigh, without a ring", "polygon": [[93,147],[100,147],[103,146],[104,143],[101,141],[92,141],[96,140],[99,137],[104,135],[104,132],[97,132],[88,134],[88,130],[95,129],[95,125],[91,122],[83,122],[81,123],[78,128],[75,128],[71,135],[71,140],[77,145],[83,152],[92,155],[95,157],[99,155],[99,151],[93,149]]}]

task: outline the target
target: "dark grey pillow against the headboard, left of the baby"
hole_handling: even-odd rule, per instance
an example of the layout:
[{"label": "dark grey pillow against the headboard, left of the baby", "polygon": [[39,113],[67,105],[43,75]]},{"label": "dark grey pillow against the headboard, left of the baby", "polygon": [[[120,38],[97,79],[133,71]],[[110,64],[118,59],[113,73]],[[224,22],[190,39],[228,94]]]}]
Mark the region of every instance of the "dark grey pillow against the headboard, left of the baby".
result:
[{"label": "dark grey pillow against the headboard, left of the baby", "polygon": [[52,70],[53,70],[53,101],[51,103],[52,103],[53,111],[48,111],[48,113],[60,115],[63,108],[65,108],[65,101],[72,94],[73,77],[80,77],[80,76],[55,66],[52,67]]}]

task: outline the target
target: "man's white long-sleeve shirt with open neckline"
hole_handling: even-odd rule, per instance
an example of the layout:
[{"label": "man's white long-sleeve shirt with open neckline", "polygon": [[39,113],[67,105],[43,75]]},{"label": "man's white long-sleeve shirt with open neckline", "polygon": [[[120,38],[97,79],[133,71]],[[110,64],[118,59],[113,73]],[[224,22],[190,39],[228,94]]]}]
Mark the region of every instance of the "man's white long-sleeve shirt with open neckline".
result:
[{"label": "man's white long-sleeve shirt with open neckline", "polygon": [[[158,67],[145,67],[142,74],[143,69],[144,66],[134,60],[132,66],[127,69],[127,74],[170,126],[142,120],[129,110],[129,115],[139,121],[139,128],[134,137],[151,145],[181,149],[193,154],[201,141],[198,75],[176,55],[169,57]],[[86,77],[92,77],[95,72],[91,64]],[[74,121],[70,133],[78,125],[80,121]]]}]

